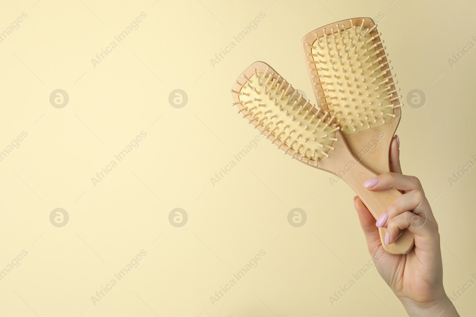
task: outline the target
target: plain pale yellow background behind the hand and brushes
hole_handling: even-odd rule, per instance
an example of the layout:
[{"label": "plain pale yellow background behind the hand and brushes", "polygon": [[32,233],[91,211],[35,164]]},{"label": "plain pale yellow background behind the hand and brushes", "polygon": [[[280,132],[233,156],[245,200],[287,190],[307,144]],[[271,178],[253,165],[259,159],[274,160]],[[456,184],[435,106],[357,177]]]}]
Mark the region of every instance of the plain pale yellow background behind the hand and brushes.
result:
[{"label": "plain pale yellow background behind the hand and brushes", "polygon": [[[440,225],[446,293],[476,281],[476,168],[453,187],[448,181],[476,162],[476,50],[448,63],[476,44],[476,5],[392,2],[2,3],[0,31],[22,12],[28,18],[0,43],[0,151],[22,131],[28,137],[0,162],[0,269],[22,250],[28,255],[0,281],[0,315],[406,316],[376,269],[331,305],[334,291],[370,259],[344,182],[332,186],[332,175],[265,139],[210,182],[257,134],[229,106],[238,75],[263,60],[315,102],[301,38],[379,12],[403,102],[412,89],[427,97],[420,109],[402,109],[397,134],[404,173],[421,179]],[[91,58],[141,12],[139,29],[93,67]],[[260,12],[258,29],[212,67],[210,58]],[[55,89],[69,94],[62,109],[50,105]],[[181,109],[169,105],[174,89],[188,94]],[[139,148],[93,186],[91,177],[141,131]],[[188,213],[181,228],[168,221],[178,207]],[[50,223],[55,208],[69,213],[62,228]],[[293,208],[307,213],[301,228],[287,221]],[[96,291],[140,250],[147,256],[139,267],[93,305]],[[266,256],[258,267],[212,305],[210,296],[259,250]],[[457,301],[462,316],[474,314],[475,299],[473,287]]]}]

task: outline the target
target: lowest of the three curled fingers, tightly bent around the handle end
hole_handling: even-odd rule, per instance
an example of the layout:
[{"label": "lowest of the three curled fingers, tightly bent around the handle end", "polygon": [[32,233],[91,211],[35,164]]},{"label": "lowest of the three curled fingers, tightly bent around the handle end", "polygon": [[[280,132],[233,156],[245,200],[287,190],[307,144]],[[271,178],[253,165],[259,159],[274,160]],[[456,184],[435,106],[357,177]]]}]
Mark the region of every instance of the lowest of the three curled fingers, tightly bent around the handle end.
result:
[{"label": "lowest of the three curled fingers, tightly bent around the handle end", "polygon": [[408,229],[408,231],[415,235],[417,248],[426,249],[427,247],[439,246],[440,244],[435,227],[411,211],[405,211],[389,221],[387,234],[385,235],[385,244],[393,243],[398,238],[399,231],[403,229]]}]

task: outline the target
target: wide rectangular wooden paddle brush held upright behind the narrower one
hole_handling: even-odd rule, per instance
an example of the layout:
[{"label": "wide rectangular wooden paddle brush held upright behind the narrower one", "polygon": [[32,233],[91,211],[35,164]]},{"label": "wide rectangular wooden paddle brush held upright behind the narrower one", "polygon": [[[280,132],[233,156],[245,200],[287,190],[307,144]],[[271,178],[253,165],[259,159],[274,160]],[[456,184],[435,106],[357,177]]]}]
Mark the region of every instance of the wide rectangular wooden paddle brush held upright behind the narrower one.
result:
[{"label": "wide rectangular wooden paddle brush held upright behind the narrower one", "polygon": [[[388,151],[403,106],[380,35],[372,19],[354,18],[315,29],[302,39],[319,106],[336,116],[352,154],[377,174],[389,171]],[[379,228],[382,241],[386,232]],[[386,250],[400,254],[407,248],[410,244],[396,241]]]}]

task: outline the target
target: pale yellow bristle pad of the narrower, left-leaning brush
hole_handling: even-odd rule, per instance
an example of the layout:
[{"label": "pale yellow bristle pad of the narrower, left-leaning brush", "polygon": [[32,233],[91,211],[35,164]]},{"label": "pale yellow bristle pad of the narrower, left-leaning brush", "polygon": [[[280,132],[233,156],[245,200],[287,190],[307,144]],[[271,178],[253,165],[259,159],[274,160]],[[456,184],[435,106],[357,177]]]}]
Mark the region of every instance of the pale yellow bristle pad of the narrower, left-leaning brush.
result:
[{"label": "pale yellow bristle pad of the narrower, left-leaning brush", "polygon": [[[297,90],[292,86],[288,87],[287,82],[284,81],[283,85],[283,78],[269,73],[266,76],[263,73],[257,75],[240,78],[248,80],[243,83],[245,87],[239,91],[239,100],[242,101],[242,104],[237,105],[241,109],[239,113],[255,127],[260,125],[260,130],[264,129],[263,134],[273,143],[278,137],[278,140],[286,145],[280,148],[287,149],[286,153],[292,157],[296,155],[299,159],[305,158],[307,163],[311,160],[317,162],[328,156],[332,144],[337,140],[335,132],[331,131],[336,127],[332,126],[332,122],[331,125],[328,123],[332,115],[318,112],[314,106],[299,97]],[[247,109],[243,109],[243,105]],[[324,121],[319,120],[322,117]],[[297,155],[296,151],[300,155]]]}]

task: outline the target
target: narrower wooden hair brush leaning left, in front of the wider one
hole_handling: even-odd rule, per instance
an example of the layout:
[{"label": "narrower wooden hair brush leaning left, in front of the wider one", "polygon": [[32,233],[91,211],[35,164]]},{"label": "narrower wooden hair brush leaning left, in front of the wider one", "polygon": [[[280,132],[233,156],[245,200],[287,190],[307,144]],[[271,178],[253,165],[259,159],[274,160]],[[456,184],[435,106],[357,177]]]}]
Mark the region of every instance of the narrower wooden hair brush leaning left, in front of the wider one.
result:
[{"label": "narrower wooden hair brush leaning left, in front of the wider one", "polygon": [[[231,89],[233,105],[248,123],[291,158],[342,178],[377,219],[402,194],[395,189],[370,192],[363,183],[377,174],[351,153],[336,116],[304,100],[284,78],[263,62],[249,66]],[[413,246],[413,235],[404,230],[398,245]],[[383,243],[384,248],[386,248]]]}]

